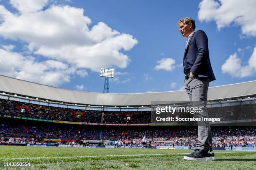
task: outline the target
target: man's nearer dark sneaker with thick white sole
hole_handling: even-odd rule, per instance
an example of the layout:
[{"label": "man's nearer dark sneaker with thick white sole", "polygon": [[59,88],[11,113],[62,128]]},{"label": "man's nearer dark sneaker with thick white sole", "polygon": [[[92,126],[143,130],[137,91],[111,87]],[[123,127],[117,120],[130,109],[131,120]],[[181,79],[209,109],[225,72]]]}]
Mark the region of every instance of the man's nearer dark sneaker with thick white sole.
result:
[{"label": "man's nearer dark sneaker with thick white sole", "polygon": [[196,149],[195,152],[184,156],[185,160],[211,161],[211,155],[205,150]]}]

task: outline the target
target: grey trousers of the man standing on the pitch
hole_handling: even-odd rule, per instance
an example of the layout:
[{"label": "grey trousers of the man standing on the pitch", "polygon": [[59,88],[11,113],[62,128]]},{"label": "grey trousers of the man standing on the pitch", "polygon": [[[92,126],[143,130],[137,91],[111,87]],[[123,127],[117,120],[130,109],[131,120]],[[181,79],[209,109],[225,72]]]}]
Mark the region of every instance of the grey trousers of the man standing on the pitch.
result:
[{"label": "grey trousers of the man standing on the pitch", "polygon": [[[189,77],[184,81],[185,90],[189,96],[190,101],[207,101],[207,91],[210,79],[202,80],[199,77]],[[194,117],[208,117],[205,109],[203,112],[197,112]],[[212,148],[212,131],[209,122],[198,122],[198,143],[199,150],[209,150]]]}]

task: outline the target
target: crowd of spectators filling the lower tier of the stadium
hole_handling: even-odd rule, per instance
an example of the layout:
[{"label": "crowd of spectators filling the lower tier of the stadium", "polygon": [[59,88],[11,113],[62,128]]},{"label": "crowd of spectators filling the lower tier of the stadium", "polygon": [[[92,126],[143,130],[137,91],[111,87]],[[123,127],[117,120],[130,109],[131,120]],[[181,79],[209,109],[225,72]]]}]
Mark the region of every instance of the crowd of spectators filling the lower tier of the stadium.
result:
[{"label": "crowd of spectators filling the lower tier of the stadium", "polygon": [[[165,130],[145,130],[129,128],[111,129],[94,129],[84,128],[81,126],[54,127],[54,126],[25,126],[10,125],[2,123],[0,125],[0,137],[2,142],[8,138],[19,138],[28,142],[27,139],[44,142],[44,139],[65,139],[65,140],[121,140],[141,142],[146,136],[148,143],[155,140],[171,140],[175,146],[196,146],[197,128],[188,129],[165,129]],[[256,128],[248,127],[212,127],[212,146],[225,147],[254,147],[256,146]]]}]

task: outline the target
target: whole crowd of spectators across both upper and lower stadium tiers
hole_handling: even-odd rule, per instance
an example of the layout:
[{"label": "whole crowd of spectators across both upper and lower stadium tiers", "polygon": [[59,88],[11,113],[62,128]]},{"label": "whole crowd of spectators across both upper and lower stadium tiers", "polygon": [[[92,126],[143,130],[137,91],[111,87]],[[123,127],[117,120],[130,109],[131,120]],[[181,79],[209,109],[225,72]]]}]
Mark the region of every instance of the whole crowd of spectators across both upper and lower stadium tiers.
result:
[{"label": "whole crowd of spectators across both upper and lower stadium tiers", "polygon": [[[247,119],[255,117],[252,107],[230,106],[210,107],[209,115],[221,117],[222,120]],[[20,117],[33,117],[48,120],[63,120],[88,123],[150,123],[150,111],[104,111],[104,110],[78,110],[63,107],[36,105],[26,102],[17,102],[0,99],[0,114]],[[253,115],[254,114],[254,115]],[[210,116],[211,117],[211,116]],[[111,140],[134,141],[140,143],[146,136],[148,143],[155,140],[172,140],[176,146],[196,146],[197,128],[145,130],[129,128],[93,129],[85,126],[51,127],[38,125],[11,125],[2,123],[0,127],[0,143],[18,141],[18,143],[45,143],[44,139],[61,140]],[[68,142],[69,143],[69,142]],[[256,129],[248,127],[212,127],[212,146],[225,147],[251,147],[256,145]]]}]

